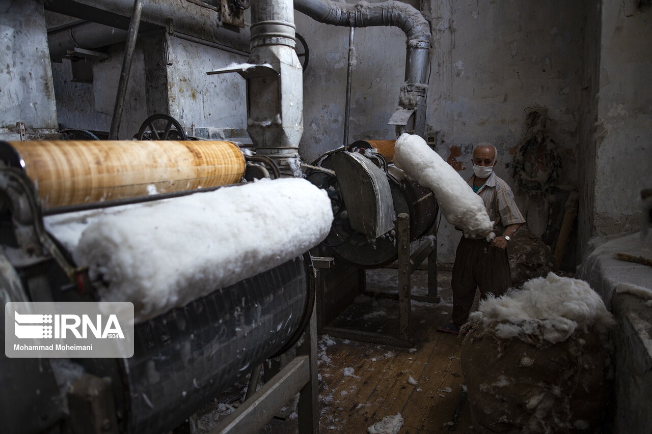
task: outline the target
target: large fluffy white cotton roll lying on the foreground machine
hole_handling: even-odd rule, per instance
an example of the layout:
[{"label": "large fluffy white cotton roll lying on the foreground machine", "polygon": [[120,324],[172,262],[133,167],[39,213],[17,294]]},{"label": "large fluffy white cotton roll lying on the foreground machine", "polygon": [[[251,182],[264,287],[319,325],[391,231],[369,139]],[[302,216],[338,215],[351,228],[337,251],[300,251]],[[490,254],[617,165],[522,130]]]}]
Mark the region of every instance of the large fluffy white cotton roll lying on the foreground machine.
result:
[{"label": "large fluffy white cotton roll lying on the foreground machine", "polygon": [[263,180],[100,216],[74,257],[107,283],[102,300],[133,302],[140,322],[301,255],[332,222],[324,190]]}]

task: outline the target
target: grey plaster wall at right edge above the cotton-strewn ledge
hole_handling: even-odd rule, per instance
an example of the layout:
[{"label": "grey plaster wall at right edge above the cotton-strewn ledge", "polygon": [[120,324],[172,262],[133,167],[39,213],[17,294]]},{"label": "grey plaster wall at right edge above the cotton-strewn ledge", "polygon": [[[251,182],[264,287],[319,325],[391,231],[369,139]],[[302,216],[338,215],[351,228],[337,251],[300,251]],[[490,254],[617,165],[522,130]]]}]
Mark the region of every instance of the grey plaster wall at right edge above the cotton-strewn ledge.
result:
[{"label": "grey plaster wall at right edge above the cotton-strewn ledge", "polygon": [[588,9],[578,260],[592,237],[640,227],[639,192],[652,185],[652,7],[638,3]]}]

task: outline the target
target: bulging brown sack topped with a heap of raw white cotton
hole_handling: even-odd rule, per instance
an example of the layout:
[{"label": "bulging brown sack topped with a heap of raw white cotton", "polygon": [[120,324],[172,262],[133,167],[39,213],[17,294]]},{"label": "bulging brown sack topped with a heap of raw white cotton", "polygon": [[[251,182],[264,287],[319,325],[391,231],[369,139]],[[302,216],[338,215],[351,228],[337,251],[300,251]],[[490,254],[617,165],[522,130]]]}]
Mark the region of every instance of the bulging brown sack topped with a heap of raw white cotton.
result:
[{"label": "bulging brown sack topped with a heap of raw white cotton", "polygon": [[[554,273],[481,302],[462,344],[479,433],[584,433],[602,423],[614,324],[600,297]],[[479,369],[482,367],[482,369]]]}]

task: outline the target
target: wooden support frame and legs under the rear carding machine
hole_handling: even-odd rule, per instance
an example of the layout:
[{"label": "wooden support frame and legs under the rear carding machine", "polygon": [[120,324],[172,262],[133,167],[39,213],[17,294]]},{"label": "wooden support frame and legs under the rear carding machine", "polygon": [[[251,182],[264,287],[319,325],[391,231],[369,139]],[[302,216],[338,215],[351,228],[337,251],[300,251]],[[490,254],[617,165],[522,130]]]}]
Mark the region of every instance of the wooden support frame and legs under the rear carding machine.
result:
[{"label": "wooden support frame and legs under the rear carding machine", "polygon": [[[431,230],[432,232],[432,230]],[[411,246],[409,232],[409,214],[404,212],[398,214],[396,219],[396,233],[398,234],[398,294],[385,292],[369,292],[364,288],[364,278],[361,278],[363,293],[372,297],[389,298],[398,300],[398,323],[399,333],[396,336],[380,334],[374,332],[365,332],[363,330],[353,330],[350,328],[336,327],[323,323],[323,300],[325,296],[325,286],[321,278],[317,282],[317,308],[318,308],[318,330],[320,333],[326,333],[336,338],[351,339],[370,343],[379,343],[382,345],[393,345],[395,347],[410,348],[414,346],[414,339],[411,335],[411,300],[437,304],[440,297],[437,289],[437,243],[436,239],[428,238],[429,242],[422,242],[414,253],[410,254]],[[434,234],[431,234],[434,235]],[[411,276],[412,273],[428,258],[428,295],[412,295]],[[328,261],[322,261],[328,262]],[[315,264],[319,268],[319,263]],[[330,268],[330,263],[323,268]],[[364,272],[363,269],[359,270]]]}]

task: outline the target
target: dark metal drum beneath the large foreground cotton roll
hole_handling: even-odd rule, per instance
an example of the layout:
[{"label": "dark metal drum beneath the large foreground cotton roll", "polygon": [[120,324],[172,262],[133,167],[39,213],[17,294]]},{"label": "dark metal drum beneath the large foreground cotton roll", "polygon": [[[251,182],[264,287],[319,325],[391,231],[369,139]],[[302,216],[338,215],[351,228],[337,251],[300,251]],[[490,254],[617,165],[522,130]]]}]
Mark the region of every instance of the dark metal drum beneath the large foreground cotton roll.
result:
[{"label": "dark metal drum beneath the large foreground cotton roll", "polygon": [[134,356],[123,360],[125,431],[170,431],[292,343],[310,315],[308,273],[297,257],[136,326]]}]

